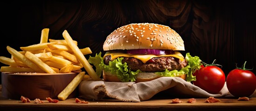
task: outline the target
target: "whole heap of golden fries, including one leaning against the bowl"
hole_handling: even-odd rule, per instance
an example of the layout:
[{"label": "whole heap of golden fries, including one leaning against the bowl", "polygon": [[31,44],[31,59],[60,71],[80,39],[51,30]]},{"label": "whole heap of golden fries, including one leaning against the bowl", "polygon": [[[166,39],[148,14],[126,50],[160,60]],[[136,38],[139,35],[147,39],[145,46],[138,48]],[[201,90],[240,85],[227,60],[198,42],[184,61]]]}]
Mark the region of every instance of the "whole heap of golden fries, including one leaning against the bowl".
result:
[{"label": "whole heap of golden fries, including one leaning against the bowl", "polygon": [[[10,58],[0,56],[0,62],[9,65],[2,66],[0,72],[24,73],[70,73],[79,72],[68,86],[58,94],[60,100],[68,98],[83,79],[102,80],[96,74],[84,55],[91,54],[89,47],[79,49],[68,31],[63,31],[63,40],[48,39],[49,29],[43,29],[38,44],[20,47],[17,51],[7,46]],[[48,42],[49,41],[49,42]],[[85,68],[85,74],[81,68]]]}]

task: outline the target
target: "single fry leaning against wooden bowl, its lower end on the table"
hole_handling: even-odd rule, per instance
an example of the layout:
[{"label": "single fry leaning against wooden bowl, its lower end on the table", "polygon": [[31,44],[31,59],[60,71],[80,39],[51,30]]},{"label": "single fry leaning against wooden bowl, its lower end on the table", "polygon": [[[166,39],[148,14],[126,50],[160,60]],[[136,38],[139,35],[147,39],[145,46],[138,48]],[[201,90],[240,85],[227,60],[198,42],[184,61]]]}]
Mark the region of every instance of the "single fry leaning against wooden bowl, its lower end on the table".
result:
[{"label": "single fry leaning against wooden bowl, its lower end on the table", "polygon": [[80,72],[76,75],[76,77],[66,86],[61,93],[58,95],[58,99],[60,100],[66,100],[69,97],[69,94],[71,94],[76,87],[79,85],[79,83],[83,80],[83,75],[85,72]]}]

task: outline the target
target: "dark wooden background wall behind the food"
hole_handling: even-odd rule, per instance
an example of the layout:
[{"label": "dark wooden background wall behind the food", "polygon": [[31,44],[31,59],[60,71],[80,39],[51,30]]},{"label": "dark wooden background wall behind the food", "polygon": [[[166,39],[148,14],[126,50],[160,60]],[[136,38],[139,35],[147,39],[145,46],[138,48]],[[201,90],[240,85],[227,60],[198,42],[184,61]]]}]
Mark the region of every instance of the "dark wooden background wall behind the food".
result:
[{"label": "dark wooden background wall behind the food", "polygon": [[39,43],[43,28],[50,29],[51,39],[64,39],[67,30],[79,48],[90,47],[94,56],[116,28],[157,23],[180,34],[184,55],[189,52],[206,63],[216,59],[226,75],[235,63],[256,67],[256,8],[250,0],[11,1],[1,3],[0,12],[0,56],[11,56],[7,45],[20,50]]}]

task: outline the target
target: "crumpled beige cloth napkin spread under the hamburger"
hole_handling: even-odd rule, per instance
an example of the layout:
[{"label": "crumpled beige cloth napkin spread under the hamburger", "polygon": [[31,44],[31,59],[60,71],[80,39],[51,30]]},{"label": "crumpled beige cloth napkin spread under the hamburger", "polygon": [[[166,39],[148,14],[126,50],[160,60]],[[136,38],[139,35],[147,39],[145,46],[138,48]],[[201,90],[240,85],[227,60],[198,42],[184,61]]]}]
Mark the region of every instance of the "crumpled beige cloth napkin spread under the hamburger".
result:
[{"label": "crumpled beige cloth napkin spread under the hamburger", "polygon": [[124,102],[149,100],[159,92],[165,92],[165,95],[170,94],[177,98],[222,97],[229,93],[226,83],[218,94],[211,94],[179,77],[161,77],[138,83],[83,80],[78,90],[79,98],[100,100],[108,97]]}]

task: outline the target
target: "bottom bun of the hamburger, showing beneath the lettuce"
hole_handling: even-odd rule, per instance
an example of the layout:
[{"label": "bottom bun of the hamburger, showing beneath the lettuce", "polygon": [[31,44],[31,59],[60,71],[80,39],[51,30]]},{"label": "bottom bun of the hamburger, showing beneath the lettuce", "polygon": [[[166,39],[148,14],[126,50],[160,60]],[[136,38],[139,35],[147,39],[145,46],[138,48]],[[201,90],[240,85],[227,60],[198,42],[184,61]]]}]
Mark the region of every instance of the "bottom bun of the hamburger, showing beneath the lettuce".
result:
[{"label": "bottom bun of the hamburger, showing beneath the lettuce", "polygon": [[[155,80],[159,77],[161,77],[161,76],[159,76],[155,73],[138,73],[136,75],[135,82],[146,82],[146,81],[150,81],[150,80]],[[186,77],[187,77],[186,74],[183,74],[180,76],[180,78],[182,78],[183,80],[186,80]],[[103,80],[109,81],[109,82],[121,82],[121,80],[119,80],[117,76],[115,76],[109,72],[105,72],[104,70],[103,70]]]}]

